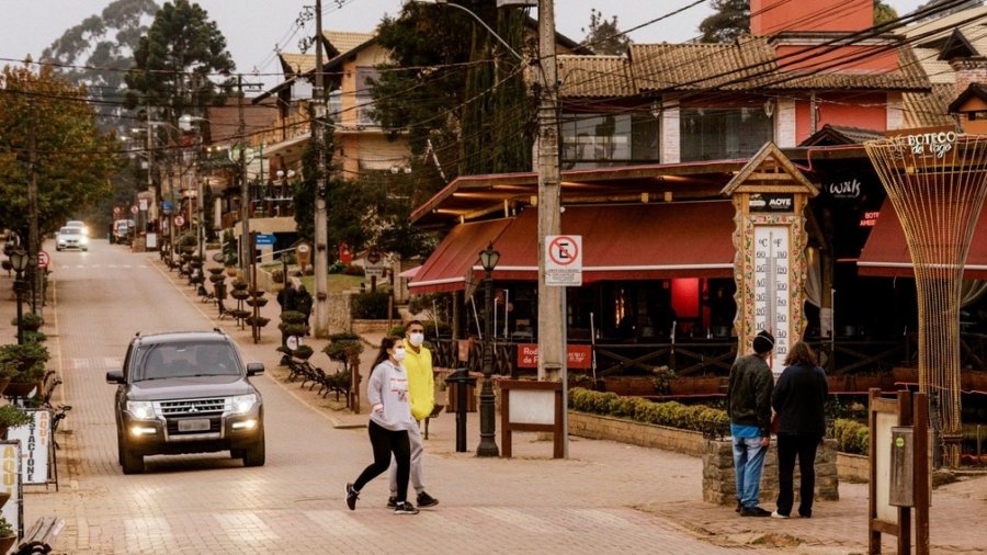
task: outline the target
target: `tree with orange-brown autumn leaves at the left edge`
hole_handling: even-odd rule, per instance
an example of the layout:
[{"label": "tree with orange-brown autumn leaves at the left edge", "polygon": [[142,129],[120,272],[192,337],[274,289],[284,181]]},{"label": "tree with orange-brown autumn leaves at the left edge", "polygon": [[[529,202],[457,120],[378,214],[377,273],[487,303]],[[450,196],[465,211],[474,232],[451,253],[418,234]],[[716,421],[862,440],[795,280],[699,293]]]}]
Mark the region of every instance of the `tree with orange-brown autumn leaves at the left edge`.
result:
[{"label": "tree with orange-brown autumn leaves at the left edge", "polygon": [[121,167],[120,144],[103,133],[75,87],[47,65],[3,68],[0,90],[0,222],[27,228],[30,137],[34,139],[38,231],[52,233],[80,208],[111,192],[109,179]]}]

